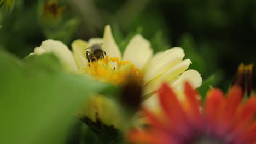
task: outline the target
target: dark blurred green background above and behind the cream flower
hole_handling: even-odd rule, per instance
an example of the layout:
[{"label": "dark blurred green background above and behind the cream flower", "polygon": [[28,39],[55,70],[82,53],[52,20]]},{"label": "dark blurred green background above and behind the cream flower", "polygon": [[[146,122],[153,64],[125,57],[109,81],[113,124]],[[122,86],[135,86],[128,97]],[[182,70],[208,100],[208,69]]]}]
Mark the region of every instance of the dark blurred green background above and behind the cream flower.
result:
[{"label": "dark blurred green background above and behind the cream flower", "polygon": [[62,22],[51,28],[40,20],[43,3],[16,1],[11,13],[0,15],[2,49],[23,58],[45,39],[59,39],[70,47],[75,39],[102,37],[104,26],[111,24],[121,49],[136,33],[149,39],[155,52],[183,47],[185,58],[193,62],[190,68],[203,79],[214,74],[216,86],[223,89],[238,64],[255,62],[255,0],[62,0]]}]

